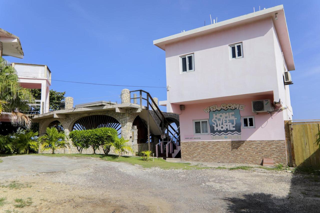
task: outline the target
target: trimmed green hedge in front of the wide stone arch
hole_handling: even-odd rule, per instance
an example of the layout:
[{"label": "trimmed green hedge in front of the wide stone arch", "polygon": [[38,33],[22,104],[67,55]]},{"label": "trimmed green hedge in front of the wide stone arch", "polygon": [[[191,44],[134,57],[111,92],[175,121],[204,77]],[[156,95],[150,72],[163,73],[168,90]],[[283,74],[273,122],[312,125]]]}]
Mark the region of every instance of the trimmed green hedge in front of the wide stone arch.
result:
[{"label": "trimmed green hedge in front of the wide stone arch", "polygon": [[102,147],[105,154],[108,154],[110,146],[103,147],[103,145],[112,140],[109,134],[113,133],[117,133],[117,131],[113,128],[102,127],[92,130],[73,130],[69,133],[69,137],[80,154],[82,153],[82,149],[89,147],[92,147],[93,154],[96,154],[96,149],[99,149],[99,146]]}]

